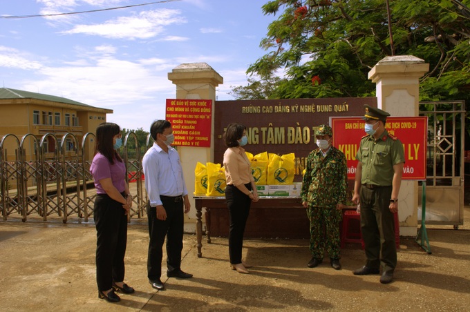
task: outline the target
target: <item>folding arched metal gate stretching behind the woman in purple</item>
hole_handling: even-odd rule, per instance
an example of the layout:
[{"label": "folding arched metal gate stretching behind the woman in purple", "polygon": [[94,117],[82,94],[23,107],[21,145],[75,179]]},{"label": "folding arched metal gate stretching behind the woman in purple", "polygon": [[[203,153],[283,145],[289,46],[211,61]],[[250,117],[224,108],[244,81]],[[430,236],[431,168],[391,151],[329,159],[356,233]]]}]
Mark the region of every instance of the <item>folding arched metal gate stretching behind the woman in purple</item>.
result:
[{"label": "folding arched metal gate stretching behind the woman in purple", "polygon": [[[79,146],[77,137],[71,133],[61,138],[53,133],[46,133],[41,138],[32,134],[21,138],[12,134],[0,137],[0,213],[3,220],[16,216],[26,222],[30,215],[39,215],[47,221],[51,215],[57,215],[64,223],[69,217],[88,222],[93,216],[96,194],[90,173],[91,159],[86,159],[85,150],[93,150],[91,142],[94,138],[93,133],[86,133]],[[128,148],[131,140],[135,146],[132,158]],[[148,135],[145,150],[151,144]],[[15,156],[10,159],[7,145],[15,151]],[[146,214],[147,193],[142,183],[142,156],[135,133],[126,134],[123,148],[126,182],[131,182],[129,188],[134,202],[128,215],[130,221]]]}]

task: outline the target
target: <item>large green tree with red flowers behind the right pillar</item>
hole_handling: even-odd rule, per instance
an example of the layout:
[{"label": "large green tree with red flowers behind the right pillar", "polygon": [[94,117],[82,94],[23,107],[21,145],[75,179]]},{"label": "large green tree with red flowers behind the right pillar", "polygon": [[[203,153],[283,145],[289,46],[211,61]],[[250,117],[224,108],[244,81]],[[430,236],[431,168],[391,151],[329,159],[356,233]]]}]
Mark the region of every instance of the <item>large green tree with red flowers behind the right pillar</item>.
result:
[{"label": "large green tree with red flowers behind the right pillar", "polygon": [[[392,50],[386,0],[269,1],[263,12],[279,18],[261,41],[267,54],[247,73],[262,77],[260,88],[270,84],[269,98],[366,97],[375,94],[367,74],[380,59],[414,55],[430,64],[422,100],[470,103],[469,6],[470,0],[391,0]],[[266,79],[278,70],[285,79]],[[249,83],[240,88],[256,88]]]}]

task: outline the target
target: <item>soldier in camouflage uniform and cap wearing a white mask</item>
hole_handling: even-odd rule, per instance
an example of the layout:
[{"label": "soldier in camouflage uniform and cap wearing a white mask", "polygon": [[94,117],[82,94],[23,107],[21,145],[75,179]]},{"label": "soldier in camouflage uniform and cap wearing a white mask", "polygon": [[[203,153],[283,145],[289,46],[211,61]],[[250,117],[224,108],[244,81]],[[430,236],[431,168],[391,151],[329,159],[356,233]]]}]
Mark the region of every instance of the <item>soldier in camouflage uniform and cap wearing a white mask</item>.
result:
[{"label": "soldier in camouflage uniform and cap wearing a white mask", "polygon": [[308,155],[301,198],[310,220],[312,260],[307,266],[314,268],[321,264],[326,250],[332,268],[339,270],[339,222],[347,200],[348,168],[344,153],[331,145],[332,135],[328,125],[321,125],[315,131],[319,148]]}]

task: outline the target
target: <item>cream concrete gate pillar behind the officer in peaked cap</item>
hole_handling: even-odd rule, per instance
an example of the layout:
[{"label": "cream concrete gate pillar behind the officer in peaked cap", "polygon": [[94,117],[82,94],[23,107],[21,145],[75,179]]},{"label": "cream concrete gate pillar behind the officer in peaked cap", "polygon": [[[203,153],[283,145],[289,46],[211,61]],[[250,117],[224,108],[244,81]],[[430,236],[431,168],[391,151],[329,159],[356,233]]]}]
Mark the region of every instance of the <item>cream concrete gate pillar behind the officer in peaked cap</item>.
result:
[{"label": "cream concrete gate pillar behind the officer in peaked cap", "polygon": [[[411,55],[385,57],[380,60],[368,73],[368,79],[376,84],[377,107],[392,116],[418,116],[419,79],[428,70],[429,64]],[[402,236],[416,235],[417,194],[417,182],[402,180],[398,196],[398,215]]]}]

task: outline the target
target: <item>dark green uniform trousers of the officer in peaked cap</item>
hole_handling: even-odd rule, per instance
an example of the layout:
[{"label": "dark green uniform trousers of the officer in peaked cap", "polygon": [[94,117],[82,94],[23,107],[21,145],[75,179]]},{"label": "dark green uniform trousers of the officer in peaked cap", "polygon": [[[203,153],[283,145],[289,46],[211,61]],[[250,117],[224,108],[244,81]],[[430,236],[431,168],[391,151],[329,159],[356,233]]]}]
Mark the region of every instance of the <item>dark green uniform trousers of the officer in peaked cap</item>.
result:
[{"label": "dark green uniform trousers of the officer in peaked cap", "polygon": [[364,239],[367,263],[370,269],[393,273],[397,266],[395,222],[388,206],[392,186],[381,188],[361,187],[361,231]]}]

